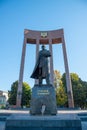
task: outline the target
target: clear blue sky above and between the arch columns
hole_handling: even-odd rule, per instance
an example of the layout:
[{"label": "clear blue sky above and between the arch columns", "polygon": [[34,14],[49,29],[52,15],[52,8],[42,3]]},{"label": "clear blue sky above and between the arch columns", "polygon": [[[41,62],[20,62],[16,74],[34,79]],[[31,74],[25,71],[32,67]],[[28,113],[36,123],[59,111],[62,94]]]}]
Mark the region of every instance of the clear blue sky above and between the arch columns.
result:
[{"label": "clear blue sky above and between the arch columns", "polygon": [[[87,0],[0,0],[0,90],[19,78],[24,29],[64,29],[70,73],[87,81]],[[48,46],[47,46],[48,48]],[[27,44],[24,78],[31,87],[35,45]],[[62,45],[53,45],[54,70],[65,72]]]}]

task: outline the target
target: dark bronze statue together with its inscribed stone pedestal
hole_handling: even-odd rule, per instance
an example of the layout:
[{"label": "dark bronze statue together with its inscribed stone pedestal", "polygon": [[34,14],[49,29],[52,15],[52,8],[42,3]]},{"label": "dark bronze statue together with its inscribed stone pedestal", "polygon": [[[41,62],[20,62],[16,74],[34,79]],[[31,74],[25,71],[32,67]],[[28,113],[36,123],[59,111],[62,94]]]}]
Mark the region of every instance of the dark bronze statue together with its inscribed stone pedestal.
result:
[{"label": "dark bronze statue together with its inscribed stone pedestal", "polygon": [[[42,45],[31,75],[31,78],[38,79],[38,84],[34,85],[31,96],[30,113],[33,115],[56,115],[57,113],[56,94],[50,82],[49,57],[51,57],[50,51]],[[46,84],[42,83],[43,79],[46,79]]]}]

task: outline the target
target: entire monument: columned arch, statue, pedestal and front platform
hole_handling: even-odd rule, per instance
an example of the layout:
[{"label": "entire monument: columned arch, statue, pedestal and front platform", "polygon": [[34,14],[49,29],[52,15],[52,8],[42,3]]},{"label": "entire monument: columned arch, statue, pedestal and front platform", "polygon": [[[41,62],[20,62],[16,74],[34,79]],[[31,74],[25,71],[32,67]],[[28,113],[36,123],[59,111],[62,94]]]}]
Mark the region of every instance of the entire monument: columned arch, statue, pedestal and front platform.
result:
[{"label": "entire monument: columned arch, statue, pedestal and front platform", "polygon": [[[31,75],[31,78],[35,79],[35,84],[32,88],[30,114],[12,114],[6,120],[5,130],[82,130],[81,120],[76,114],[57,113],[56,95],[53,85],[52,44],[54,43],[63,43],[68,103],[69,107],[74,107],[63,29],[47,32],[25,30],[24,34],[17,107],[21,107],[26,43],[37,43],[36,64]],[[42,50],[40,51],[39,43],[42,44]],[[44,46],[44,44],[48,43],[49,50]],[[48,59],[50,59],[50,66]],[[43,79],[46,80],[46,84],[43,83]]]}]

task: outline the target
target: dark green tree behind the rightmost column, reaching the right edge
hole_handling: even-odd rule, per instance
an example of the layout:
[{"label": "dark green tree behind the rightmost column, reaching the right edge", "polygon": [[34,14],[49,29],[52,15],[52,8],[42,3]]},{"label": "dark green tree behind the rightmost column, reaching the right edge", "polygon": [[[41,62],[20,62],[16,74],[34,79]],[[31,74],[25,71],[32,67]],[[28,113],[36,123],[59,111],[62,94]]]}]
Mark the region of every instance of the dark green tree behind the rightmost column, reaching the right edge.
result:
[{"label": "dark green tree behind the rightmost column, reaching the right edge", "polygon": [[[65,73],[62,75],[63,87],[66,90]],[[87,108],[87,82],[82,81],[76,73],[71,73],[72,90],[75,107]],[[67,93],[67,91],[66,91]]]}]

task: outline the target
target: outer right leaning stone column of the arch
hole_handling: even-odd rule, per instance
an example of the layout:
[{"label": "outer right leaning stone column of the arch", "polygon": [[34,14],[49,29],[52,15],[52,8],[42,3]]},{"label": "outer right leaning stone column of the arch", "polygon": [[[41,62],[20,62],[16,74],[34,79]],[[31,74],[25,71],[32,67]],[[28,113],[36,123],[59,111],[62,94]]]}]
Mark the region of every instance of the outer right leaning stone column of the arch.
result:
[{"label": "outer right leaning stone column of the arch", "polygon": [[69,74],[69,67],[68,67],[68,60],[67,60],[67,53],[66,53],[66,46],[65,46],[64,36],[62,37],[62,49],[63,49],[65,72],[66,72],[68,105],[69,105],[69,108],[74,108],[72,84],[71,84],[71,78],[70,78],[70,74]]}]

